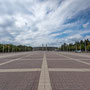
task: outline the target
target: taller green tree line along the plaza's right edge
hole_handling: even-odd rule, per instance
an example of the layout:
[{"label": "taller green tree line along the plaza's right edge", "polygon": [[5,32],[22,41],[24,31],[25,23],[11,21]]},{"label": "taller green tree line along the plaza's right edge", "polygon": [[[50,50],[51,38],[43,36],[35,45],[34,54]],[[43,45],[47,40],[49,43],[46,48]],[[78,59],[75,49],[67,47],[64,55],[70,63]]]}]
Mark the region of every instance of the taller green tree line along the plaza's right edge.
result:
[{"label": "taller green tree line along the plaza's right edge", "polygon": [[90,41],[87,40],[81,40],[77,41],[75,43],[66,44],[64,43],[59,48],[60,51],[75,51],[75,50],[81,50],[81,51],[90,51]]}]

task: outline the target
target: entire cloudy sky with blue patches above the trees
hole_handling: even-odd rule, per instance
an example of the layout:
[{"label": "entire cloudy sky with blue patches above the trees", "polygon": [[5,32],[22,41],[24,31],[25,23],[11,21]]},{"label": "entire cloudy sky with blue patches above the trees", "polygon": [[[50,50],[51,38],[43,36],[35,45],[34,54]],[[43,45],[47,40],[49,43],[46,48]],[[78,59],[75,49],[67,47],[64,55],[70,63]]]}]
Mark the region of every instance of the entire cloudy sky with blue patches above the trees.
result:
[{"label": "entire cloudy sky with blue patches above the trees", "polygon": [[90,40],[90,0],[0,0],[0,43],[60,46]]}]

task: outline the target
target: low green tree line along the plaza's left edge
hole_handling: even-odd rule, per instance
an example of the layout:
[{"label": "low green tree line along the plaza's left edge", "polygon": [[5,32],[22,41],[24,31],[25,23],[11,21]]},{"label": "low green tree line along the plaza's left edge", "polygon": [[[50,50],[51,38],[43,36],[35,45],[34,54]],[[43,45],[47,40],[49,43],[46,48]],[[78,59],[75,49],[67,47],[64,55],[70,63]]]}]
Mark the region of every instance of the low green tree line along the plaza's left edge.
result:
[{"label": "low green tree line along the plaza's left edge", "polygon": [[24,52],[24,51],[32,51],[32,47],[24,45],[0,44],[0,52]]}]

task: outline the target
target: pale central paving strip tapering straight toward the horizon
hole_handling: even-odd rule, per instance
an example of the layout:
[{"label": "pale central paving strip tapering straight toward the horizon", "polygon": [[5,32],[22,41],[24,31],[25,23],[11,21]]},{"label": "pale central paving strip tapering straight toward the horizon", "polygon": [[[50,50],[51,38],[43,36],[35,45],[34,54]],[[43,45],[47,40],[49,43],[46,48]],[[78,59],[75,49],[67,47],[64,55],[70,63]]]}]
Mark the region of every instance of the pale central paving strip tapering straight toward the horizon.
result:
[{"label": "pale central paving strip tapering straight toward the horizon", "polygon": [[52,90],[45,52],[43,57],[38,90]]}]

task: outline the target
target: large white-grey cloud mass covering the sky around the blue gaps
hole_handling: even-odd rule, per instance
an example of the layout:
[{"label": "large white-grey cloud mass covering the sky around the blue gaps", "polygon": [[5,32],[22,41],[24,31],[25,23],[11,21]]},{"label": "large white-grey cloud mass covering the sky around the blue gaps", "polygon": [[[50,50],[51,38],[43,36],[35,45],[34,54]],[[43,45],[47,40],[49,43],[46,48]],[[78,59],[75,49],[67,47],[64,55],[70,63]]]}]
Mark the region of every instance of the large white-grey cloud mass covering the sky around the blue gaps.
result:
[{"label": "large white-grey cloud mass covering the sky around the blue gaps", "polygon": [[[80,11],[89,8],[89,3],[90,0],[2,0],[0,1],[0,27],[9,33],[5,36],[9,37],[12,43],[14,40],[14,43],[32,46],[42,43],[56,44],[59,40],[55,36],[72,31],[50,34],[77,25],[78,22],[66,25],[64,23]],[[86,26],[87,24],[83,25]],[[67,39],[63,39],[68,41],[75,37],[81,38],[81,35],[72,34]],[[63,39],[62,42],[65,41]],[[1,42],[5,40],[1,38]]]}]

